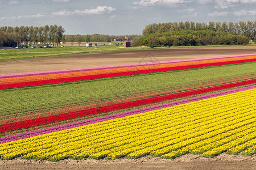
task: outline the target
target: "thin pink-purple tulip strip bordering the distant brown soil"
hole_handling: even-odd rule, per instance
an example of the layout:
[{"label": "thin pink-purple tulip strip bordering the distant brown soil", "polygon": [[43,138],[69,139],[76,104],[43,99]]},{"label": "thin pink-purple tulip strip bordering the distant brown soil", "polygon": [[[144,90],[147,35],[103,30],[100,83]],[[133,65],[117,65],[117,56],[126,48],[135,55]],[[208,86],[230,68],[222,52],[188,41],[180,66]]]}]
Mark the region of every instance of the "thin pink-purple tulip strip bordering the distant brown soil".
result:
[{"label": "thin pink-purple tulip strip bordering the distant brown soil", "polygon": [[129,65],[114,65],[114,66],[101,66],[101,67],[87,67],[80,69],[65,69],[65,70],[50,70],[50,71],[35,71],[28,73],[14,73],[14,74],[0,74],[0,79],[3,78],[14,78],[19,76],[34,76],[34,75],[48,75],[48,74],[60,74],[60,73],[72,73],[77,71],[92,71],[92,70],[101,70],[101,69],[117,69],[122,67],[133,67],[133,66],[147,66],[155,64],[166,64],[166,63],[176,63],[176,62],[191,62],[191,61],[202,61],[207,59],[221,59],[221,58],[232,58],[232,57],[246,57],[254,56],[255,54],[246,54],[246,55],[236,55],[236,56],[220,56],[220,57],[207,57],[207,58],[195,58],[195,59],[179,59],[172,61],[159,61],[156,62],[146,62],[146,63],[134,63]]}]

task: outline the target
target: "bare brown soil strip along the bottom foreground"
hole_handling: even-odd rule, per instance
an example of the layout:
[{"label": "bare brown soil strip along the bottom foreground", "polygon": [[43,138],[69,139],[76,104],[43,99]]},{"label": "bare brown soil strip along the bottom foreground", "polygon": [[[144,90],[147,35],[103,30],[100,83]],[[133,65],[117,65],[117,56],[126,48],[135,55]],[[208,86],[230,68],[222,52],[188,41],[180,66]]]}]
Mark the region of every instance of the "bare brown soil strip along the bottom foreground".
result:
[{"label": "bare brown soil strip along the bottom foreground", "polygon": [[255,156],[221,154],[214,158],[201,155],[183,155],[179,158],[161,159],[145,156],[140,159],[93,160],[0,160],[0,169],[256,169]]}]

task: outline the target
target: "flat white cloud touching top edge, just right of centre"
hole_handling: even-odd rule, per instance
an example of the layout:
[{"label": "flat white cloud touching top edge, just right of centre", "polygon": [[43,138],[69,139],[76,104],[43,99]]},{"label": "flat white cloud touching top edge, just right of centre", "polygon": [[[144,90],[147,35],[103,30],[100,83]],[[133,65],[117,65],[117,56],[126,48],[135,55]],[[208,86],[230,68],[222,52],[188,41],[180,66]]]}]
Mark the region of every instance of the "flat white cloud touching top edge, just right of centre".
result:
[{"label": "flat white cloud touching top edge, just right of centre", "polygon": [[149,6],[149,5],[168,5],[171,3],[189,3],[190,0],[141,0],[134,2],[134,5]]}]

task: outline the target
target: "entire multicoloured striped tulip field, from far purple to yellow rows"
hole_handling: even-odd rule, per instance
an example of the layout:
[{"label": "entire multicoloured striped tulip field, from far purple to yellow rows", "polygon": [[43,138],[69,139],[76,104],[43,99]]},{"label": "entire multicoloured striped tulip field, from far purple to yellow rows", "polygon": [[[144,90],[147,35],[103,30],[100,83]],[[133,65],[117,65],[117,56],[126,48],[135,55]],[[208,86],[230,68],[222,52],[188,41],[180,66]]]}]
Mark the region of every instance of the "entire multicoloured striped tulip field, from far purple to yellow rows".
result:
[{"label": "entire multicoloured striped tulip field, from far purple to yellow rows", "polygon": [[0,74],[0,159],[256,154],[256,54]]}]

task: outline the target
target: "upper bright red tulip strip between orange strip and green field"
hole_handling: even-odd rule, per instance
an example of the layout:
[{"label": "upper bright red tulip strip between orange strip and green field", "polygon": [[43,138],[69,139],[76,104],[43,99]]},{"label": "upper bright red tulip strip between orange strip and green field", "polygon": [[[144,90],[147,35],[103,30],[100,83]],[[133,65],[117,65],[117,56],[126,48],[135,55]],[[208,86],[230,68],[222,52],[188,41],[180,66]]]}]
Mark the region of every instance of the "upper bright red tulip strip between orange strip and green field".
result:
[{"label": "upper bright red tulip strip between orange strip and green field", "polygon": [[16,87],[27,87],[27,86],[39,86],[39,85],[43,85],[43,84],[76,82],[76,81],[80,81],[80,80],[100,79],[100,78],[109,78],[109,77],[114,77],[114,76],[136,75],[136,74],[147,74],[147,73],[156,73],[156,72],[171,71],[171,70],[193,69],[193,68],[199,68],[199,67],[229,65],[229,64],[233,64],[233,63],[253,62],[253,61],[256,61],[256,58],[242,59],[242,60],[237,60],[237,61],[204,63],[204,64],[199,64],[199,65],[189,65],[189,66],[166,67],[166,68],[160,68],[160,69],[135,70],[135,71],[125,71],[125,72],[119,72],[119,73],[75,76],[75,77],[71,77],[71,78],[36,80],[36,81],[23,82],[23,83],[2,84],[2,85],[0,85],[0,89],[16,88]]}]

